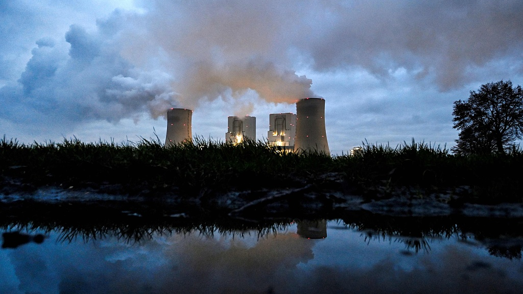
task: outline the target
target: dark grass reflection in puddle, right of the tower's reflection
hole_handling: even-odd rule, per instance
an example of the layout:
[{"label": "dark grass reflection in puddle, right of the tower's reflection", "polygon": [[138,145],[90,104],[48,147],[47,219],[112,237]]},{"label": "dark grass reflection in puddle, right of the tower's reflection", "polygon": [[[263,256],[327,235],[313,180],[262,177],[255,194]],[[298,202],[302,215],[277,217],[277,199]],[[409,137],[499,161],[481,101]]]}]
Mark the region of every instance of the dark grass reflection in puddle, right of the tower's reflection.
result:
[{"label": "dark grass reflection in puddle, right of the tower's reflection", "polygon": [[494,256],[520,259],[523,253],[523,219],[446,217],[390,217],[368,212],[341,219],[347,228],[362,232],[365,242],[405,244],[407,251],[429,252],[433,240],[479,242]]}]

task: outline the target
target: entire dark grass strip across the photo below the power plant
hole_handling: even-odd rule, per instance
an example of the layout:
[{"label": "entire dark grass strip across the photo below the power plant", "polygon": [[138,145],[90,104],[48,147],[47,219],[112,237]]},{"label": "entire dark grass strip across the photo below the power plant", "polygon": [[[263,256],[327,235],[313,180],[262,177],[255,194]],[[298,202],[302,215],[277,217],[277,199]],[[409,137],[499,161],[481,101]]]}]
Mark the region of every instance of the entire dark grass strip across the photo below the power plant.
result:
[{"label": "entire dark grass strip across the photo below the power plant", "polygon": [[467,201],[521,202],[522,167],[519,149],[463,156],[414,140],[395,148],[363,144],[356,156],[282,153],[260,141],[233,145],[199,138],[170,148],[158,139],[121,144],[84,143],[76,138],[33,144],[0,140],[0,192],[4,194],[72,186],[106,187],[109,192],[112,187],[113,193],[129,195],[212,197],[230,190],[324,186],[335,173],[352,192],[369,198],[393,196],[403,187],[423,197],[465,186]]}]

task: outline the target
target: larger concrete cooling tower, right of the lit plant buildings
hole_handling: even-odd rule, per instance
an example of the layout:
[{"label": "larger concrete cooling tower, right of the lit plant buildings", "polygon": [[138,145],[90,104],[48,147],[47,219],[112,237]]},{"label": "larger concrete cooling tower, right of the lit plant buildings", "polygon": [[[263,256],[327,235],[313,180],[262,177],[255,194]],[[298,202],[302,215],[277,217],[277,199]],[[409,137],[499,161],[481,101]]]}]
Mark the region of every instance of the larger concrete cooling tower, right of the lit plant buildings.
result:
[{"label": "larger concrete cooling tower, right of the lit plant buildings", "polygon": [[325,131],[325,100],[305,98],[296,103],[296,139],[294,152],[330,154]]}]

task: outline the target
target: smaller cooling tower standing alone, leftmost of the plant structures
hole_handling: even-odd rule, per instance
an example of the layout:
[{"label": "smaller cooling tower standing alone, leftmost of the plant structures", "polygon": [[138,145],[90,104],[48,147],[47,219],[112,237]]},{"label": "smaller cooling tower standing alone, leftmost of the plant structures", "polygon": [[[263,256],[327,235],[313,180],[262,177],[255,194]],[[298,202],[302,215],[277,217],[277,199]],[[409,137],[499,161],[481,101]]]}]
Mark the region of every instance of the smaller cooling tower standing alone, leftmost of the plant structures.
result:
[{"label": "smaller cooling tower standing alone, leftmost of the plant structures", "polygon": [[167,136],[165,146],[169,147],[192,140],[192,110],[171,108],[167,110]]}]

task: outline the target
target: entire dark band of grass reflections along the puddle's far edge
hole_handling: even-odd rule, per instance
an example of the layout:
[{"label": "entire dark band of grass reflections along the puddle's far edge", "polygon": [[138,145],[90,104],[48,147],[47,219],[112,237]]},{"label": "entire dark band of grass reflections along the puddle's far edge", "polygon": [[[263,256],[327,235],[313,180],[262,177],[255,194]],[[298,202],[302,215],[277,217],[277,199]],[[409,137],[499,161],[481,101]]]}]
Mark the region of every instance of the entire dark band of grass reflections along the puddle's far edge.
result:
[{"label": "entire dark band of grass reflections along the puddle's far edge", "polygon": [[[40,221],[0,222],[0,231],[21,231],[22,233],[58,233],[57,242],[71,243],[81,240],[88,243],[116,239],[123,244],[139,244],[158,236],[175,234],[201,235],[205,238],[224,236],[226,238],[245,238],[256,236],[266,239],[286,232],[296,223],[311,223],[317,219],[260,220],[258,222],[238,219],[201,218],[141,218],[113,217],[99,221],[54,218]],[[320,221],[326,224],[325,220]],[[520,259],[523,248],[523,222],[514,219],[478,219],[457,217],[386,217],[371,213],[351,213],[345,218],[336,219],[346,229],[361,232],[362,242],[389,242],[405,245],[403,254],[411,252],[429,253],[434,240],[455,239],[477,245],[480,242],[494,256]],[[436,225],[438,224],[438,225]],[[329,238],[327,228],[327,239]],[[297,232],[300,234],[300,232]],[[510,240],[507,242],[506,240]],[[473,242],[471,242],[473,241]]]}]

